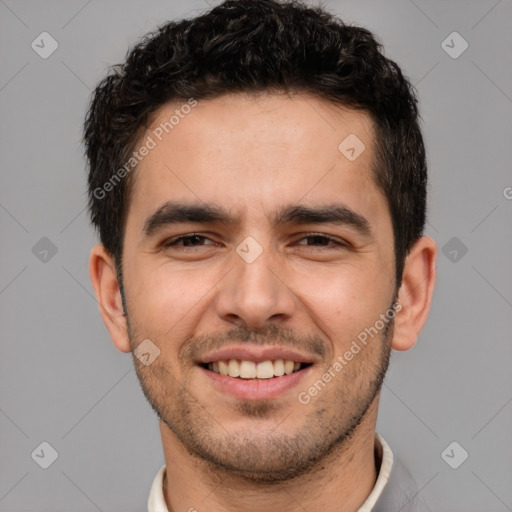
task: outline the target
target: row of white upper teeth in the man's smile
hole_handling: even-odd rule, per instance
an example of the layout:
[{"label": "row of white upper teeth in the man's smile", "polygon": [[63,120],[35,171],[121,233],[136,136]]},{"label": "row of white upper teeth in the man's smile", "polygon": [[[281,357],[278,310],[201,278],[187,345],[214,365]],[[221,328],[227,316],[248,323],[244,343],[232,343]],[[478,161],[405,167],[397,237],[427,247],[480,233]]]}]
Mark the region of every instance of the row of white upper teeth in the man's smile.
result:
[{"label": "row of white upper teeth in the man's smile", "polygon": [[229,377],[240,377],[242,379],[271,379],[289,375],[300,368],[300,363],[294,361],[276,359],[275,361],[254,361],[229,359],[226,361],[215,361],[208,364],[208,369],[215,373]]}]

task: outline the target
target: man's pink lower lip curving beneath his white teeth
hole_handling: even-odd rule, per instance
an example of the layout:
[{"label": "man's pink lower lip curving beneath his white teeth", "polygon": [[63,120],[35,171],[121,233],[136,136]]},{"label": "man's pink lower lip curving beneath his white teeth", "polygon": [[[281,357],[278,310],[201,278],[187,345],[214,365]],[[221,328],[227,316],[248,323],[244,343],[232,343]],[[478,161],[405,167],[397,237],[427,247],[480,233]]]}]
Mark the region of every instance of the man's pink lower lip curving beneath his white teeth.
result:
[{"label": "man's pink lower lip curving beneath his white teeth", "polygon": [[239,379],[220,375],[203,367],[199,367],[199,369],[217,389],[224,393],[241,398],[242,400],[270,400],[297,386],[309,374],[312,367],[307,366],[303,370],[283,375],[282,377],[260,380]]}]

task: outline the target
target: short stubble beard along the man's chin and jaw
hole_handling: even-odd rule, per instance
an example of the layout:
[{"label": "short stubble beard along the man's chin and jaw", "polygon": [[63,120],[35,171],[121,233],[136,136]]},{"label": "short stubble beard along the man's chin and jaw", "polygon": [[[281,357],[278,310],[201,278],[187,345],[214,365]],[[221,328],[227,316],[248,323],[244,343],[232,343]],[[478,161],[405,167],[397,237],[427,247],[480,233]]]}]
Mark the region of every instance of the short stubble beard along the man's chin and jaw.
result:
[{"label": "short stubble beard along the man's chin and jaw", "polygon": [[[130,323],[127,324],[130,343],[134,343],[139,337]],[[326,393],[324,400],[301,406],[304,409],[299,411],[311,409],[292,433],[283,433],[279,425],[259,432],[230,431],[222,425],[222,418],[215,417],[208,409],[207,401],[202,404],[190,393],[187,380],[178,383],[164,365],[155,365],[148,371],[151,366],[137,364],[135,357],[134,364],[146,399],[192,457],[205,463],[212,473],[220,472],[253,483],[279,483],[314,471],[333,452],[341,453],[348,447],[382,387],[390,360],[392,332],[393,320],[379,339],[371,342],[378,343],[380,351],[377,361],[366,370],[365,389],[348,390],[353,379],[350,375],[344,378],[343,372],[350,368],[347,366],[336,377],[338,384],[327,384],[337,385],[336,393],[334,388],[322,390],[319,394]],[[358,366],[368,368],[368,360],[371,358],[362,364],[360,359]],[[357,374],[355,365],[352,373]],[[239,401],[236,414],[248,419],[283,416],[280,406],[271,401]],[[292,416],[284,418],[283,424],[289,425]]]}]

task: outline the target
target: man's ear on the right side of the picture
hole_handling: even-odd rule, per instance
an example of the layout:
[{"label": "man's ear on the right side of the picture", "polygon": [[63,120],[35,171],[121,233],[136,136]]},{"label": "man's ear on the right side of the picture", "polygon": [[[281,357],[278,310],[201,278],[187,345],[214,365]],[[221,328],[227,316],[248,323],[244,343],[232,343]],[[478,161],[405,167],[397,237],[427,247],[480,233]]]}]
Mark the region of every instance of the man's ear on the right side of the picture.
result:
[{"label": "man's ear on the right side of the picture", "polygon": [[391,344],[395,350],[413,347],[427,320],[436,282],[436,255],[434,240],[423,236],[405,259],[402,284],[398,290],[400,310],[397,308]]}]

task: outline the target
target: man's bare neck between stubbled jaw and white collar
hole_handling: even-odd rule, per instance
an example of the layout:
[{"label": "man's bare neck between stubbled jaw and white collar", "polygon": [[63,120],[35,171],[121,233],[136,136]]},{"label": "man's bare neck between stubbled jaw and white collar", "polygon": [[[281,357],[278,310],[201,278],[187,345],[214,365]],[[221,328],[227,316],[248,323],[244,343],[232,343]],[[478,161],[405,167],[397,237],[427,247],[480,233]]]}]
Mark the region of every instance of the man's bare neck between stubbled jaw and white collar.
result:
[{"label": "man's bare neck between stubbled jaw and white collar", "polygon": [[375,424],[378,396],[354,434],[306,475],[262,484],[233,476],[191,454],[160,421],[166,462],[164,497],[169,512],[356,512],[377,478]]}]

